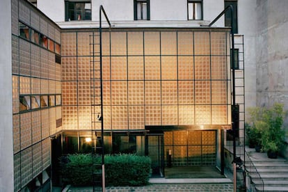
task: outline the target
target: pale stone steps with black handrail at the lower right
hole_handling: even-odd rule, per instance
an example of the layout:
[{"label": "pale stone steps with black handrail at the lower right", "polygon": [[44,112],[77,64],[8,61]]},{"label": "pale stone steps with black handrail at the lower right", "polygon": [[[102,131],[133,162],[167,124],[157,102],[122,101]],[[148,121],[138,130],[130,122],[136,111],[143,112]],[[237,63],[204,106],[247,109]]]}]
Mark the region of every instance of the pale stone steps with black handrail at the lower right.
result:
[{"label": "pale stone steps with black handrail at the lower right", "polygon": [[269,159],[265,152],[248,152],[248,154],[264,181],[264,191],[288,191],[288,161],[286,159],[282,157]]}]

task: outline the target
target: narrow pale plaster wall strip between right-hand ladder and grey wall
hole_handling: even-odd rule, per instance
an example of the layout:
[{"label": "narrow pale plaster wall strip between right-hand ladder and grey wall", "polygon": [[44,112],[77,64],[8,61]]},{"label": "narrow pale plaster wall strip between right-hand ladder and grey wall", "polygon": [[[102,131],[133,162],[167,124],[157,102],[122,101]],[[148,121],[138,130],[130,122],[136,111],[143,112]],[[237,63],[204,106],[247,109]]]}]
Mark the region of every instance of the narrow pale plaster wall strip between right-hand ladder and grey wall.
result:
[{"label": "narrow pale plaster wall strip between right-hand ladder and grey wall", "polygon": [[[238,32],[244,35],[245,67],[245,106],[246,109],[256,105],[256,39],[257,13],[256,0],[238,1]],[[246,113],[246,116],[248,114]]]}]

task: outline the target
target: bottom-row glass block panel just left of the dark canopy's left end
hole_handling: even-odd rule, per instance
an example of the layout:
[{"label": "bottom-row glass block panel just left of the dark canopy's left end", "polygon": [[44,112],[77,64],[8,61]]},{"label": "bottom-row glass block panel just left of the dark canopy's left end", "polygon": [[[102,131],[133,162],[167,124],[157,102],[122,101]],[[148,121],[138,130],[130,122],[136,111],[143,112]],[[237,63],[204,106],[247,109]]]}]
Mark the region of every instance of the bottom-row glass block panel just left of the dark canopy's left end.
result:
[{"label": "bottom-row glass block panel just left of the dark canopy's left end", "polygon": [[129,106],[129,129],[145,129],[144,106]]}]

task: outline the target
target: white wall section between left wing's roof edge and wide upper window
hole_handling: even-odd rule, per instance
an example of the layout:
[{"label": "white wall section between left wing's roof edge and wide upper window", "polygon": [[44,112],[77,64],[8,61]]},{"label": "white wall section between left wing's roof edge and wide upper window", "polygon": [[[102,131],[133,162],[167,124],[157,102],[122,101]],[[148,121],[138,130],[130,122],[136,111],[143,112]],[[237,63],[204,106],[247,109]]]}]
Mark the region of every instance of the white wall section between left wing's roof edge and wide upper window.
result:
[{"label": "white wall section between left wing's roof edge and wide upper window", "polygon": [[37,8],[54,22],[65,21],[65,3],[59,0],[37,0]]}]

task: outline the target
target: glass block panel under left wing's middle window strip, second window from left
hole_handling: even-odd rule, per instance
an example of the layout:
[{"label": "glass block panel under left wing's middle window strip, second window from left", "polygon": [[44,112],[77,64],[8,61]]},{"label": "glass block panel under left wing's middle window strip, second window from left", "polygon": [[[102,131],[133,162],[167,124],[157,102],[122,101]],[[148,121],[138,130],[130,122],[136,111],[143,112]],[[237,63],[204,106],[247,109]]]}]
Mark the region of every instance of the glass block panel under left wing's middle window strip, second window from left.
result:
[{"label": "glass block panel under left wing's middle window strip, second window from left", "polygon": [[41,111],[33,111],[32,113],[32,143],[41,140]]}]

